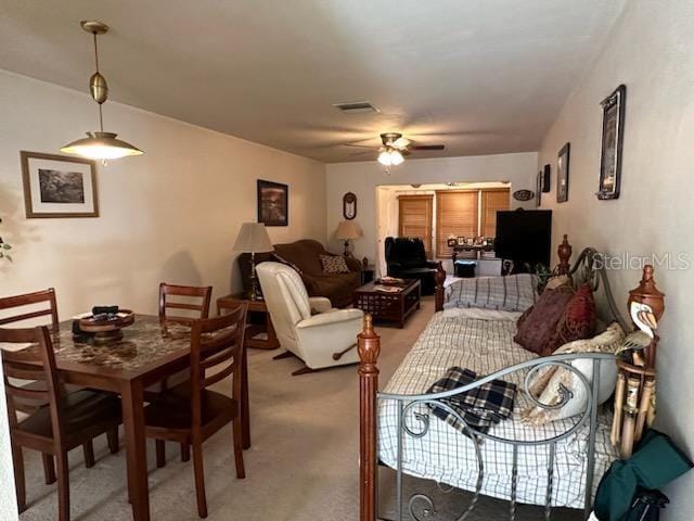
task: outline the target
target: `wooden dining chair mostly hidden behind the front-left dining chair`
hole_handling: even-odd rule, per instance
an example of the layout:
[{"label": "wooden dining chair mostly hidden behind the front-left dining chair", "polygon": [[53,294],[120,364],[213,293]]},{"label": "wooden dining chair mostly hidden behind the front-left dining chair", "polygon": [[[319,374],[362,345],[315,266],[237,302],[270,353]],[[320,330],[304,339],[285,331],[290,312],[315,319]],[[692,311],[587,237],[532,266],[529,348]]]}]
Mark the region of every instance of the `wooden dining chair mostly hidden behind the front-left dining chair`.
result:
[{"label": "wooden dining chair mostly hidden behind the front-left dining chair", "polygon": [[[47,304],[47,307],[42,305]],[[33,306],[28,310],[27,306]],[[37,309],[38,307],[38,309]],[[16,325],[39,317],[51,317],[50,329],[53,332],[57,332],[60,329],[60,321],[57,319],[57,303],[55,298],[55,290],[49,288],[48,290],[36,291],[34,293],[25,293],[22,295],[4,296],[0,298],[0,326]],[[40,385],[40,383],[38,384]],[[69,385],[59,382],[57,385],[61,389],[63,395],[77,392],[82,387],[78,385]],[[29,382],[25,386],[29,390],[35,389],[37,383]],[[48,402],[41,399],[31,399],[28,397],[17,397],[14,402],[15,409],[20,412],[30,415],[36,412],[40,407],[48,405]],[[114,428],[113,431],[107,433],[108,435],[108,448],[112,454],[118,452],[118,428]],[[94,466],[94,446],[91,440],[85,442],[82,446],[85,455],[85,466],[91,468]],[[43,474],[46,478],[46,484],[55,482],[55,466],[53,458],[49,455],[43,455]]]}]

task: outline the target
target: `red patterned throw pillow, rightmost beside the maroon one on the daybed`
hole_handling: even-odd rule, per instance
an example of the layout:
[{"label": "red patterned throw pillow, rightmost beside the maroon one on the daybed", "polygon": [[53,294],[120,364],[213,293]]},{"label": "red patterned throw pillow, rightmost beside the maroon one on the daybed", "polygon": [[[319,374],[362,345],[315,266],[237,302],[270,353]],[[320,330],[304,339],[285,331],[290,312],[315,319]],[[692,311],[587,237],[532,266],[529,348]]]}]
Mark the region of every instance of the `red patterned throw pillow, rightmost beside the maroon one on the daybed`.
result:
[{"label": "red patterned throw pillow, rightmost beside the maroon one on the daybed", "polygon": [[593,290],[589,284],[583,284],[568,301],[564,315],[556,325],[556,331],[542,353],[543,356],[551,355],[568,342],[593,336],[596,315]]}]

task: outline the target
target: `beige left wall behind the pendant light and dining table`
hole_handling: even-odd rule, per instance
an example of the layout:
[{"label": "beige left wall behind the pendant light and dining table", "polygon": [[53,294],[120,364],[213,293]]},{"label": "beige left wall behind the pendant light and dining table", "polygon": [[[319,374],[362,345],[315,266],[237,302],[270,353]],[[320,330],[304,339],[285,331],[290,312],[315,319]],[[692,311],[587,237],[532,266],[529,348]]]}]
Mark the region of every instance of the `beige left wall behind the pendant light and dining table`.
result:
[{"label": "beige left wall behind the pendant light and dining table", "polygon": [[[223,107],[220,107],[223,110]],[[81,92],[0,72],[0,295],[55,287],[63,318],[93,304],[156,310],[159,281],[239,288],[232,246],[256,220],[256,179],[290,186],[273,242],[325,239],[323,164],[116,103],[106,130],[145,154],[98,166],[101,217],[26,219],[20,150],[56,153],[97,124]]]}]

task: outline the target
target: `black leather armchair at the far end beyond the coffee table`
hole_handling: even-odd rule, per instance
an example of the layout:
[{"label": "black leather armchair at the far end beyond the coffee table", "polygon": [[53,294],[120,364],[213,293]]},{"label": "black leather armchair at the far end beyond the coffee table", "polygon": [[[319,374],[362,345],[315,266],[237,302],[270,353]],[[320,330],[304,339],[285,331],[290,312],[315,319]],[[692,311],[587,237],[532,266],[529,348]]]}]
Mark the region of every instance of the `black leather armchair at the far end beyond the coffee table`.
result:
[{"label": "black leather armchair at the far end beyond the coffee table", "polygon": [[437,263],[428,260],[422,239],[388,237],[385,242],[388,276],[420,279],[423,295],[433,295]]}]

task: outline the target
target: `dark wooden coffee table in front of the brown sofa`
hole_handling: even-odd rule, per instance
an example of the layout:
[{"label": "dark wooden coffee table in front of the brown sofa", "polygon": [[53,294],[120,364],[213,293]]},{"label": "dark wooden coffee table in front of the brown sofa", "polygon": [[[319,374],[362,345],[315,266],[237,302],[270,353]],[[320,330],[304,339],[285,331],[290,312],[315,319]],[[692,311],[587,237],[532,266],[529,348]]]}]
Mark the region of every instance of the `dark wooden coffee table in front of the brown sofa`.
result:
[{"label": "dark wooden coffee table in front of the brown sofa", "polygon": [[406,279],[403,283],[389,285],[398,291],[382,291],[383,285],[369,282],[357,288],[352,295],[356,308],[370,314],[374,320],[397,322],[404,327],[404,320],[420,308],[421,284],[419,279]]}]

